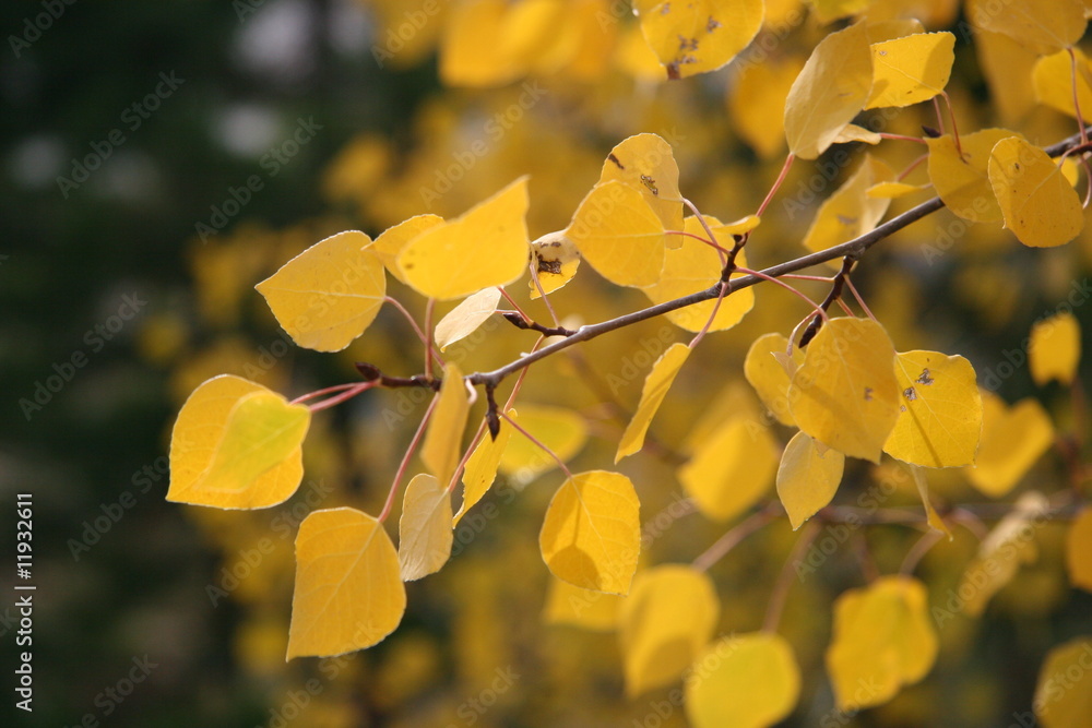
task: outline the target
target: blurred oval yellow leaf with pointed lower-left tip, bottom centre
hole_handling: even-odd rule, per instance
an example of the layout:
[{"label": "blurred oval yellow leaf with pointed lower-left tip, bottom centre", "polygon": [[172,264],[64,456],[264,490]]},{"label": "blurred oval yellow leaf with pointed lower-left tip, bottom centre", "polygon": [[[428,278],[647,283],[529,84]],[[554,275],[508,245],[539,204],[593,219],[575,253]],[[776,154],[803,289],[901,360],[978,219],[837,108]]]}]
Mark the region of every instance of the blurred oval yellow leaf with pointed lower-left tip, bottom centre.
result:
[{"label": "blurred oval yellow leaf with pointed lower-left tip, bottom centre", "polygon": [[621,605],[626,694],[677,680],[709,644],[720,612],[716,588],[704,572],[668,564],[638,574]]}]

